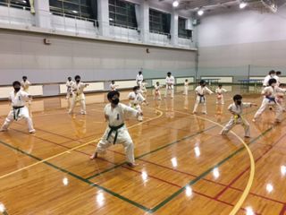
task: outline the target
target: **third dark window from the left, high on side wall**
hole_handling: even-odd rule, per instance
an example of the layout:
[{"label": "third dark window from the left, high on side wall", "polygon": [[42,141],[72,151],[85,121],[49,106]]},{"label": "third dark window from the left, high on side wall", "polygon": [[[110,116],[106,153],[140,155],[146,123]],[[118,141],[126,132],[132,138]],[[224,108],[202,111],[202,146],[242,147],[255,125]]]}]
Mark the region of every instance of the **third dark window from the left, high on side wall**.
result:
[{"label": "third dark window from the left, high on side wall", "polygon": [[135,4],[109,0],[109,23],[115,26],[137,28]]}]

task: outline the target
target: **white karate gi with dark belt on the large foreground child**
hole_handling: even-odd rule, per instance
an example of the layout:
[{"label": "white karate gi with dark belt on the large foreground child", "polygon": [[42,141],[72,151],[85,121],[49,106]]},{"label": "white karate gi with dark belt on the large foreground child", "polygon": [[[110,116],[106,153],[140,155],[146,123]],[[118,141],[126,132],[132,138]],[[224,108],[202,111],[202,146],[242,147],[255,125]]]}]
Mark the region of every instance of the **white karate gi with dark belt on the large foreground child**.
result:
[{"label": "white karate gi with dark belt on the large foreground child", "polygon": [[[130,116],[136,117],[139,111],[134,108],[128,107],[119,103],[116,107],[111,104],[105,106],[105,116],[107,116],[108,126],[101,140],[97,143],[97,152],[103,153],[113,144],[122,144],[125,150],[127,162],[134,164],[134,145],[130,134],[124,125],[125,118]],[[111,132],[112,128],[114,131]],[[116,128],[117,127],[117,128]],[[116,131],[117,129],[117,131]],[[110,135],[108,136],[108,133]],[[116,142],[114,142],[117,133]]]}]

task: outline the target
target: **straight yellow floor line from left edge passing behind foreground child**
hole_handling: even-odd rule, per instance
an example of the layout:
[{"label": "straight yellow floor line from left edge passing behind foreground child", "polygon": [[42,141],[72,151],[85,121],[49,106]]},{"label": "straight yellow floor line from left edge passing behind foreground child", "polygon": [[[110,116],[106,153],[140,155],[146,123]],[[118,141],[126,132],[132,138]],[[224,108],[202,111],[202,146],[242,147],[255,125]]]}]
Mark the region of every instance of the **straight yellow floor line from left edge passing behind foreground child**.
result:
[{"label": "straight yellow floor line from left edge passing behind foreground child", "polygon": [[[145,124],[145,123],[147,123],[147,122],[150,122],[150,121],[152,121],[152,120],[155,120],[155,119],[157,119],[157,118],[163,116],[163,112],[160,111],[160,110],[158,110],[158,111],[159,111],[160,115],[155,116],[155,117],[152,117],[152,118],[150,118],[150,119],[148,119],[148,120],[146,120],[146,121],[143,121],[143,122],[141,122],[141,123],[138,123],[138,124],[135,124],[135,125],[131,125],[131,126],[128,127],[128,129],[133,128],[133,127],[138,126],[138,125]],[[27,168],[35,167],[35,166],[37,166],[38,164],[44,163],[44,162],[46,162],[47,160],[50,160],[50,159],[55,159],[55,158],[57,158],[57,157],[62,156],[63,154],[71,153],[72,150],[78,150],[78,149],[80,149],[80,148],[82,148],[82,147],[84,147],[84,146],[90,144],[91,142],[98,142],[100,139],[101,139],[101,137],[100,137],[100,138],[97,138],[96,140],[90,141],[90,142],[85,142],[85,143],[83,143],[83,144],[81,144],[81,145],[79,145],[79,146],[76,146],[76,147],[74,147],[74,148],[72,148],[72,149],[70,149],[70,150],[65,150],[65,151],[63,151],[63,152],[61,152],[61,153],[59,153],[59,154],[56,154],[56,155],[54,155],[54,156],[52,156],[52,157],[49,157],[49,158],[47,158],[47,159],[43,159],[43,160],[41,160],[41,161],[38,161],[38,162],[36,162],[36,163],[34,163],[34,164],[31,164],[31,165],[29,165],[29,166],[27,166],[27,167],[25,167],[25,168],[19,168],[19,169],[15,170],[15,171],[13,171],[13,172],[11,172],[11,173],[8,173],[8,174],[5,174],[5,175],[3,175],[3,176],[0,176],[0,179],[3,179],[4,177],[7,177],[7,176],[12,176],[13,174],[19,173],[19,172],[21,172],[22,170],[25,170],[25,169],[27,169]]]}]

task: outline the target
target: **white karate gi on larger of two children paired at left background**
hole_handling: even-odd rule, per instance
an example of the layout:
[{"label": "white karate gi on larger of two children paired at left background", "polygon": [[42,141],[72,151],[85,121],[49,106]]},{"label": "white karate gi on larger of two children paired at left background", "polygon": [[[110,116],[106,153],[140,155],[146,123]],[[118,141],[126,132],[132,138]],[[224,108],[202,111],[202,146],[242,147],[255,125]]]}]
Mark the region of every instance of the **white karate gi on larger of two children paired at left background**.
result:
[{"label": "white karate gi on larger of two children paired at left background", "polygon": [[77,102],[80,102],[80,114],[85,115],[87,114],[86,111],[86,97],[83,93],[83,90],[86,88],[86,84],[83,82],[74,82],[71,85],[71,92],[72,92],[72,99],[71,99],[71,108],[69,113],[73,112],[73,109]]}]

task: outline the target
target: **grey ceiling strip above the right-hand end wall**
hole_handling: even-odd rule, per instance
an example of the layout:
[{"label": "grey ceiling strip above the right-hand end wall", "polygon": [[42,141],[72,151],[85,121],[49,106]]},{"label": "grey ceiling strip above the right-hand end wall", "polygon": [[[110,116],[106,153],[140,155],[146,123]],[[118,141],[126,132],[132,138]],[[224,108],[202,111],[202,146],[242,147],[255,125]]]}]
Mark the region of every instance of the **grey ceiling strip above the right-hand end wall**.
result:
[{"label": "grey ceiling strip above the right-hand end wall", "polygon": [[[173,0],[156,0],[158,2],[164,2],[166,4],[172,4]],[[286,0],[263,0],[265,4],[274,3],[277,8],[286,4]],[[197,12],[200,8],[203,8],[207,13],[220,12],[222,10],[238,9],[240,0],[179,0],[180,4],[178,9],[189,12]],[[262,3],[262,0],[244,0],[248,3],[247,9],[259,10],[261,12],[273,12],[269,7],[266,7]]]}]

